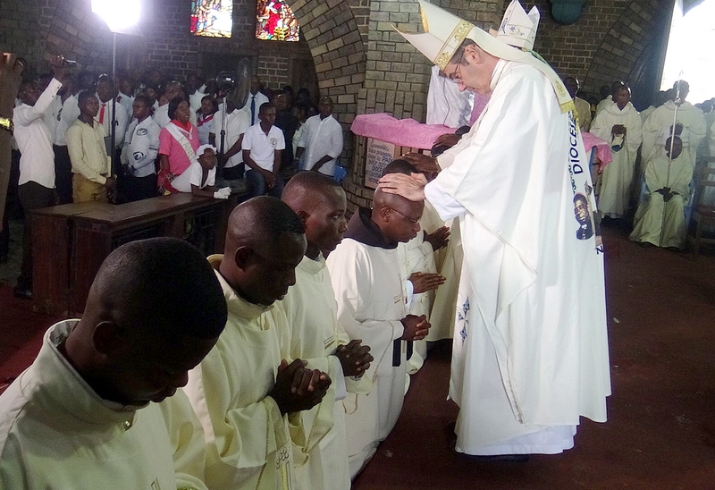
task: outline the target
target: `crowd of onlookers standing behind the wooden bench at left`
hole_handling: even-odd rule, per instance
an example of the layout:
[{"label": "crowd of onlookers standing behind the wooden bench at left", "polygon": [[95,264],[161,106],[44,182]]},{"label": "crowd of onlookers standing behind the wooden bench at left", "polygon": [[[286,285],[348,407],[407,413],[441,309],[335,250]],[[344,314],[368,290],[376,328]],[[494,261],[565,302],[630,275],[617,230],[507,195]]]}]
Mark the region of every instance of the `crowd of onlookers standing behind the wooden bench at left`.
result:
[{"label": "crowd of onlookers standing behind the wooden bench at left", "polygon": [[238,87],[221,79],[179,81],[152,70],[113,84],[107,75],[69,73],[62,56],[50,65],[52,73],[21,83],[14,107],[16,193],[26,218],[20,297],[32,295],[33,209],[179,192],[280,198],[293,174],[333,176],[341,156],[332,99],[315,106],[307,89],[269,90],[254,76],[238,101]]}]

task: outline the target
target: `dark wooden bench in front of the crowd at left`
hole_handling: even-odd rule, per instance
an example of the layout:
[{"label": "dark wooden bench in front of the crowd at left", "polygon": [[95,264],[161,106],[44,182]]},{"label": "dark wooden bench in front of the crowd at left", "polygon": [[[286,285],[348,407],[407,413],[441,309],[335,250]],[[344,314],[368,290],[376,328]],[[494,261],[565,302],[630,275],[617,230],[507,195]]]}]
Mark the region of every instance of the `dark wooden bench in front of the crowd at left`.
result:
[{"label": "dark wooden bench in front of the crowd at left", "polygon": [[223,199],[172,194],[118,206],[87,202],[32,213],[35,309],[78,315],[109,253],[129,241],[172,236],[206,256],[223,251],[230,204]]}]

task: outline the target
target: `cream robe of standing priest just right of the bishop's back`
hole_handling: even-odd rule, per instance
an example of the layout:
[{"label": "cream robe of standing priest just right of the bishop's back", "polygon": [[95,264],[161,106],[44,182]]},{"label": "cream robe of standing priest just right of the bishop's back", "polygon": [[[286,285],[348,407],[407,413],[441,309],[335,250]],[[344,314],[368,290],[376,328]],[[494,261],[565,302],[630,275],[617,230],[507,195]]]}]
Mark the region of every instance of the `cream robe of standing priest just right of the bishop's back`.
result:
[{"label": "cream robe of standing priest just right of the bishop's back", "polygon": [[[614,136],[613,126],[626,127],[626,135]],[[613,161],[603,169],[598,209],[601,215],[620,218],[626,214],[634,180],[635,157],[643,141],[643,122],[633,104],[621,111],[611,104],[599,113],[591,124],[591,132],[610,145]]]}]

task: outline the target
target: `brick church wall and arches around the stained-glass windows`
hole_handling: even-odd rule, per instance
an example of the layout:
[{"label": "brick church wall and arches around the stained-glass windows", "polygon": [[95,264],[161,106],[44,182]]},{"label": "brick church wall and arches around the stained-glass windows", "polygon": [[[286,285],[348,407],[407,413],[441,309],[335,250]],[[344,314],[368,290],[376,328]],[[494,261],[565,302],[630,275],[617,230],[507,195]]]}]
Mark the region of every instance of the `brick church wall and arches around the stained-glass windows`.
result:
[{"label": "brick church wall and arches around the stained-glass windows", "polygon": [[[9,0],[3,0],[8,2]],[[488,29],[501,20],[504,0],[433,0],[443,8]],[[176,76],[196,71],[210,56],[248,55],[271,88],[290,83],[296,59],[315,64],[321,95],[329,95],[346,131],[343,163],[351,160],[349,125],[356,114],[387,112],[397,118],[425,120],[430,64],[392,30],[416,31],[421,25],[416,0],[288,0],[301,25],[301,43],[258,41],[254,36],[254,0],[234,1],[234,38],[189,36],[189,2],[147,1],[154,21],[146,37],[120,38],[120,66],[132,62],[158,65]],[[548,0],[536,4],[542,13],[535,49],[559,74],[571,74],[596,91],[621,79],[638,93],[652,92],[658,78],[672,0],[591,0],[573,25],[551,20]],[[111,35],[87,0],[26,0],[3,9],[0,47],[23,53],[39,65],[46,50],[67,49],[80,63],[108,71]],[[299,64],[305,69],[305,64]],[[230,68],[230,67],[227,67]],[[650,83],[650,86],[649,86]],[[298,88],[298,87],[296,87]],[[362,174],[352,169],[346,187],[353,204],[369,199]]]}]

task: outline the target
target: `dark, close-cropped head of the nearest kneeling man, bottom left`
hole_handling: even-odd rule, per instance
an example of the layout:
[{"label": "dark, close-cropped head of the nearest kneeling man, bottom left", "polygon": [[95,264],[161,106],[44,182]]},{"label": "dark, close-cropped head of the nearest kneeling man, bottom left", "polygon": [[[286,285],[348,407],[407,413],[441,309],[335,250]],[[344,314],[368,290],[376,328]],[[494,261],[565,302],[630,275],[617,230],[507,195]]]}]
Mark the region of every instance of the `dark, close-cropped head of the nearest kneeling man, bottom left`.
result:
[{"label": "dark, close-cropped head of the nearest kneeling man, bottom left", "polygon": [[184,386],[226,325],[223,290],[186,241],[154,238],[114,250],[58,349],[101,398],[143,406]]}]

